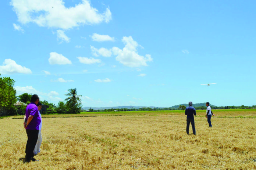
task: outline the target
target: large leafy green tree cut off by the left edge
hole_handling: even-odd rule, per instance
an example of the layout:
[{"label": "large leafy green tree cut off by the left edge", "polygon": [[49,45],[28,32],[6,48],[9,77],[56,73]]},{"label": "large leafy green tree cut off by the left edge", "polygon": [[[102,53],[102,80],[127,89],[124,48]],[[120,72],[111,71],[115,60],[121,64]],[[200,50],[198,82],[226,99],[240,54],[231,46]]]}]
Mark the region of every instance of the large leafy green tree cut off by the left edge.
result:
[{"label": "large leafy green tree cut off by the left edge", "polygon": [[0,116],[17,114],[17,108],[14,106],[17,102],[14,83],[10,77],[0,77]]}]

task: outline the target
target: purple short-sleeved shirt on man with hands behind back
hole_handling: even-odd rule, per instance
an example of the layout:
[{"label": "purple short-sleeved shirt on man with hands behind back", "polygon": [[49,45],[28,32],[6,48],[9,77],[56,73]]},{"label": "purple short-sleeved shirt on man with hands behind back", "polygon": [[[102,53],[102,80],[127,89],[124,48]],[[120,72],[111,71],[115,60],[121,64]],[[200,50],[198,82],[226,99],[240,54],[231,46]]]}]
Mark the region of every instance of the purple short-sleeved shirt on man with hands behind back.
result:
[{"label": "purple short-sleeved shirt on man with hands behind back", "polygon": [[29,130],[39,130],[39,125],[41,123],[41,117],[38,114],[38,108],[34,102],[31,102],[26,107],[26,119],[28,120],[29,116],[34,116],[31,122],[28,124],[26,129]]}]

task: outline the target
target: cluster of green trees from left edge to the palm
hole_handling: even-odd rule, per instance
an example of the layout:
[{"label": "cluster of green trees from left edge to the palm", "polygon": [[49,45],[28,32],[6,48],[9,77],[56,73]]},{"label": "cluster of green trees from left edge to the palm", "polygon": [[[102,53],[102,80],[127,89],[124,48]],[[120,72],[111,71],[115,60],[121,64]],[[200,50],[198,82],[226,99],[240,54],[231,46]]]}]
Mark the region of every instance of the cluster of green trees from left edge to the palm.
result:
[{"label": "cluster of green trees from left edge to the palm", "polygon": [[[0,74],[1,75],[1,74]],[[0,116],[7,115],[24,115],[26,111],[26,105],[15,106],[17,101],[29,104],[32,94],[24,93],[19,96],[16,95],[16,90],[13,87],[15,81],[10,77],[0,77]],[[59,101],[56,106],[48,101],[40,101],[43,105],[49,106],[46,112],[42,114],[51,113],[80,113],[82,109],[82,103],[80,97],[82,95],[77,94],[76,88],[68,89],[68,93],[65,94],[67,98],[65,101]]]}]

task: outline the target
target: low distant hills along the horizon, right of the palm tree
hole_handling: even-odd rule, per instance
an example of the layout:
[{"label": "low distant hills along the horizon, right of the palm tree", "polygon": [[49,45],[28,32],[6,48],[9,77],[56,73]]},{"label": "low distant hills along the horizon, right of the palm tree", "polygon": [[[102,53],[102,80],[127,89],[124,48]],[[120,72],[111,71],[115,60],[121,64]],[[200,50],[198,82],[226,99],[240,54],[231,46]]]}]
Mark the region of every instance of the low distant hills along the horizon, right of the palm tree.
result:
[{"label": "low distant hills along the horizon, right of the palm tree", "polygon": [[[188,104],[180,104],[180,105],[184,105],[184,106],[188,106]],[[193,107],[200,107],[200,106],[206,106],[205,103],[196,103],[196,104],[193,104]],[[214,106],[214,105],[211,105],[210,106]],[[84,110],[88,110],[92,108],[93,110],[104,110],[104,109],[139,109],[139,108],[160,108],[160,109],[163,109],[163,108],[171,108],[171,109],[178,109],[179,108],[179,105],[175,105],[175,106],[171,106],[171,107],[156,107],[156,106],[113,106],[113,107],[83,107]]]}]

